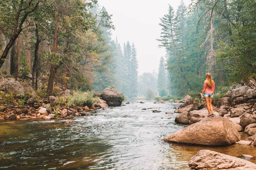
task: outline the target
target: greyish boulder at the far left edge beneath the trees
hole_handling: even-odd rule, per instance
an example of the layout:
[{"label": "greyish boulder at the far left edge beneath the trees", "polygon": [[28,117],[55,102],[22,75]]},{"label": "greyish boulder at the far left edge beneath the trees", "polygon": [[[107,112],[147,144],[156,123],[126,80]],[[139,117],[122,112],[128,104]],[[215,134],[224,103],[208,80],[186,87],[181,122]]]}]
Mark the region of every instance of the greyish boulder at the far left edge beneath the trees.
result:
[{"label": "greyish boulder at the far left edge beneath the trees", "polygon": [[24,95],[24,87],[14,79],[0,79],[0,91],[12,91],[15,96]]}]

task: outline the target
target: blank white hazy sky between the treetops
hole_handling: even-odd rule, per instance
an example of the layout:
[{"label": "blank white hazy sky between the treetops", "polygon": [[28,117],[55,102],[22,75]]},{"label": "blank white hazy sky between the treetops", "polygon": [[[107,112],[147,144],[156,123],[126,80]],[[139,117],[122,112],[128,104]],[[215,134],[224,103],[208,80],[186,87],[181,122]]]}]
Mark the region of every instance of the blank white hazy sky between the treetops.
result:
[{"label": "blank white hazy sky between the treetops", "polygon": [[[98,0],[109,14],[112,14],[112,39],[116,36],[123,47],[123,43],[134,42],[137,48],[139,75],[144,72],[158,72],[161,56],[166,55],[164,48],[158,48],[161,27],[160,17],[168,13],[168,4],[175,9],[181,0]],[[186,5],[190,0],[183,0]]]}]

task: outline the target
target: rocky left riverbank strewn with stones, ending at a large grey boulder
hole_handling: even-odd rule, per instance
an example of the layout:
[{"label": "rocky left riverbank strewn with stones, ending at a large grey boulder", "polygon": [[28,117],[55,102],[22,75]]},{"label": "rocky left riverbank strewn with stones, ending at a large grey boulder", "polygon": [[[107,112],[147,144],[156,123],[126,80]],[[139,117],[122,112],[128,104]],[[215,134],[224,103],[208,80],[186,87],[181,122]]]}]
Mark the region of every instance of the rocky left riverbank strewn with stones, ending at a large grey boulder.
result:
[{"label": "rocky left riverbank strewn with stones, ending at a large grey boulder", "polygon": [[[38,91],[37,93],[40,94]],[[102,94],[94,93],[88,99],[88,105],[69,105],[68,99],[72,95],[69,89],[60,90],[56,96],[48,98],[37,93],[24,82],[10,78],[1,79],[0,120],[73,119],[76,116],[96,113],[96,109],[122,104],[122,97],[114,88],[106,88]]]}]

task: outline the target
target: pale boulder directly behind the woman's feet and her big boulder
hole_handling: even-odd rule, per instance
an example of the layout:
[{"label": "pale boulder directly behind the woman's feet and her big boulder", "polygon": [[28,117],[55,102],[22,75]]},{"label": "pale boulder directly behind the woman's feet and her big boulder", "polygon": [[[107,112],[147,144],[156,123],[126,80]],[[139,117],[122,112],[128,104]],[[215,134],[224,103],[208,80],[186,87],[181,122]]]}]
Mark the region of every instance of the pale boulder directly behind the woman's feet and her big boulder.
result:
[{"label": "pale boulder directly behind the woman's feet and her big boulder", "polygon": [[[214,116],[220,116],[220,114],[216,111],[213,111]],[[206,118],[208,116],[208,111],[207,110],[200,110],[200,111],[190,111],[188,113],[188,119],[189,119],[189,124],[193,124],[196,122],[199,122],[200,120]]]}]

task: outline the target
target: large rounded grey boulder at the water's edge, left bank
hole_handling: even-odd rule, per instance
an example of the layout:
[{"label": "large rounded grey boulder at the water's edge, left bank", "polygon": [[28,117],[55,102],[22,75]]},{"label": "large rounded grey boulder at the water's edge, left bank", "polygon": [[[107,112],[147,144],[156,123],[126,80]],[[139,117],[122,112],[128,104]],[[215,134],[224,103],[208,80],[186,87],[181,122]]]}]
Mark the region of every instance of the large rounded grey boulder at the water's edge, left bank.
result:
[{"label": "large rounded grey boulder at the water's edge, left bank", "polygon": [[108,106],[120,106],[122,97],[115,88],[106,88],[102,92],[102,99],[105,100]]}]

